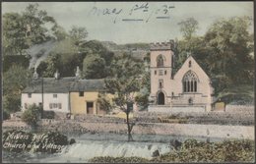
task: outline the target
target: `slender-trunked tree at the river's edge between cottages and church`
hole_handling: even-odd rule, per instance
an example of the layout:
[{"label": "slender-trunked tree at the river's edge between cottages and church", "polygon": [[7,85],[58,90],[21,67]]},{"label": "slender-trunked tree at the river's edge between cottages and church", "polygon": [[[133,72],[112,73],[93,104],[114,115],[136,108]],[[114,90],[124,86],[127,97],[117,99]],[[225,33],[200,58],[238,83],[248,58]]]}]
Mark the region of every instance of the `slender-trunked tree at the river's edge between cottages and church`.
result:
[{"label": "slender-trunked tree at the river's edge between cottages and church", "polygon": [[135,92],[140,90],[140,75],[143,70],[140,63],[134,62],[131,55],[123,54],[112,65],[114,78],[105,80],[106,90],[114,94],[113,102],[126,114],[128,141],[133,140],[131,132],[134,124],[129,120],[131,109],[135,102]]}]

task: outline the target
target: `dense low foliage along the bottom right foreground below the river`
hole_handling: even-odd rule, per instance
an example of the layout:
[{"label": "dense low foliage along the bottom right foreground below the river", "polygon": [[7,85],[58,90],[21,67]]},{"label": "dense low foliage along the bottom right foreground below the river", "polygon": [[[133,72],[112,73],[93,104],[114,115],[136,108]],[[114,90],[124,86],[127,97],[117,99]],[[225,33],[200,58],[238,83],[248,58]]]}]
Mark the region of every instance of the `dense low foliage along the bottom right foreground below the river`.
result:
[{"label": "dense low foliage along the bottom right foreground below the river", "polygon": [[104,163],[169,163],[169,162],[254,162],[253,140],[224,140],[222,142],[201,142],[185,140],[177,150],[153,159],[141,157],[95,157],[90,162]]}]

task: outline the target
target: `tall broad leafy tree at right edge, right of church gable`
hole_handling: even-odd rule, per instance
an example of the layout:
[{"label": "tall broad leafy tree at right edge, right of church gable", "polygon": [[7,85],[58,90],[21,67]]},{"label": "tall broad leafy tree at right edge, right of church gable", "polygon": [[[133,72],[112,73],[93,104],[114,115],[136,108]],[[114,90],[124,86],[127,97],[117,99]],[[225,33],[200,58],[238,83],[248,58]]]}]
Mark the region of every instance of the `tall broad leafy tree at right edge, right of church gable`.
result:
[{"label": "tall broad leafy tree at right edge, right of church gable", "polygon": [[247,17],[223,19],[215,22],[205,35],[206,46],[211,49],[207,64],[213,75],[225,77],[226,84],[253,82],[249,25]]}]

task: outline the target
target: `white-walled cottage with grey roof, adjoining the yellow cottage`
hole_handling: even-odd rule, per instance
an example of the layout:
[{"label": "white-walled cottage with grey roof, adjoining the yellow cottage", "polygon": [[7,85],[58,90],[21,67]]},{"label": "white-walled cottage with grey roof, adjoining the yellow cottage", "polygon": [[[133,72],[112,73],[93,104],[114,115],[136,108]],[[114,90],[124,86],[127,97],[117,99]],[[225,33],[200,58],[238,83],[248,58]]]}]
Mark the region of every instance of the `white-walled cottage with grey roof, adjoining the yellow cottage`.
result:
[{"label": "white-walled cottage with grey roof, adjoining the yellow cottage", "polygon": [[22,110],[35,103],[42,105],[44,111],[70,112],[69,89],[76,77],[60,78],[56,73],[54,78],[36,78],[22,92]]}]

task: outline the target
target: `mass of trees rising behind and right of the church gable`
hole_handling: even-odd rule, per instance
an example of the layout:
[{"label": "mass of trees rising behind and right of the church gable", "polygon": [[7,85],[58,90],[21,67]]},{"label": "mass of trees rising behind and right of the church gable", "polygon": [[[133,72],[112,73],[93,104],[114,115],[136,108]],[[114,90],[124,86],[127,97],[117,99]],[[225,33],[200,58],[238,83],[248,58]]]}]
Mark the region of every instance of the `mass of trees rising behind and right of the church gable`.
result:
[{"label": "mass of trees rising behind and right of the church gable", "polygon": [[[254,75],[253,34],[248,17],[217,20],[203,36],[197,36],[198,22],[189,18],[179,23],[183,38],[177,41],[176,66],[191,53],[211,77],[218,95],[227,86],[252,84]],[[177,69],[176,69],[177,70]]]}]

